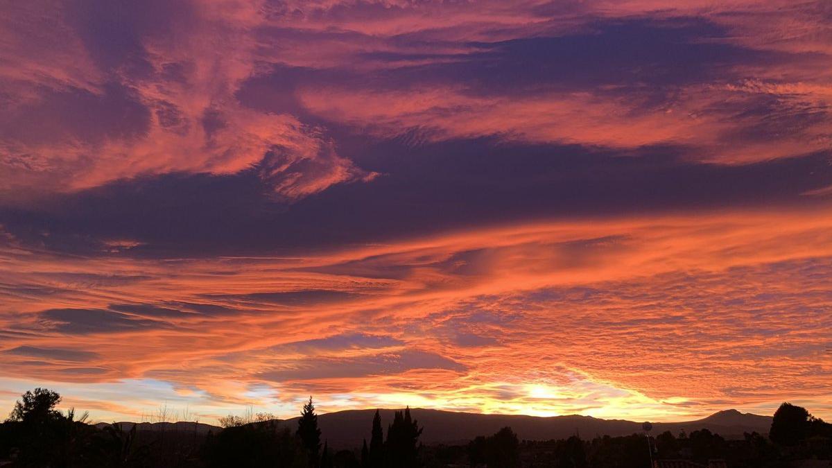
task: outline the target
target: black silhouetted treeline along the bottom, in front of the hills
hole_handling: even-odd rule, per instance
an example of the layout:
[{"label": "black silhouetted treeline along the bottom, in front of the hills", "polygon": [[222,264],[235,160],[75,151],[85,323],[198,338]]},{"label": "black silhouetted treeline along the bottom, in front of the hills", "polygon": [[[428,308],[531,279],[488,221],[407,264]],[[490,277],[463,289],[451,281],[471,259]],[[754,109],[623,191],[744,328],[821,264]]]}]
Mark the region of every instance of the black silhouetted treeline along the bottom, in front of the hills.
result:
[{"label": "black silhouetted treeline along the bottom, in front of the hills", "polygon": [[[706,465],[726,461],[731,468],[780,468],[795,461],[832,459],[832,425],[800,406],[784,403],[775,412],[770,433],[746,433],[726,440],[711,431],[667,431],[657,436],[572,436],[557,441],[520,441],[510,427],[468,444],[423,446],[409,408],[396,411],[386,429],[379,411],[368,421],[369,441],[353,450],[333,451],[318,427],[312,398],[297,426],[269,414],[220,418],[223,428],[207,434],[191,426],[161,426],[159,431],[101,428],[87,416],[57,411],[54,391],[23,394],[0,424],[0,466],[11,467],[183,467],[183,468],[416,468],[472,466],[519,468],[650,467],[652,461],[687,460]],[[167,428],[167,429],[165,429]]]}]

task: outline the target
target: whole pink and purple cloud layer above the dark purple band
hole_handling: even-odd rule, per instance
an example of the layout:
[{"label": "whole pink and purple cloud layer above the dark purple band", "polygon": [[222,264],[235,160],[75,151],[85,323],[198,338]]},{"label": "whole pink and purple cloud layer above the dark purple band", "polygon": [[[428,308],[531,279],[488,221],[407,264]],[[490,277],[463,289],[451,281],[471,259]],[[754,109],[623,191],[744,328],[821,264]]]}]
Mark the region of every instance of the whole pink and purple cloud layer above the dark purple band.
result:
[{"label": "whole pink and purple cloud layer above the dark purple band", "polygon": [[[817,2],[29,2],[3,22],[0,190],[26,202],[256,167],[294,202],[378,176],[342,154],[339,125],[416,142],[675,144],[732,164],[825,151],[827,14]],[[768,100],[746,82],[767,83]]]}]

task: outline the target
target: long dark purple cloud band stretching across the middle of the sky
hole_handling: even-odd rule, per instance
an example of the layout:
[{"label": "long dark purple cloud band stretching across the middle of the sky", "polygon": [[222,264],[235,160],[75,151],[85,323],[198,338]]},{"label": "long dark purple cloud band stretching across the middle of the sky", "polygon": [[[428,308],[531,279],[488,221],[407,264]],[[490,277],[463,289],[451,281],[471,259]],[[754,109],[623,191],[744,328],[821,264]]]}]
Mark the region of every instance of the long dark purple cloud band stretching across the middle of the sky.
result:
[{"label": "long dark purple cloud band stretching across the middle of the sky", "polygon": [[[832,177],[823,152],[726,166],[691,162],[678,147],[626,157],[488,139],[421,147],[362,139],[356,147],[384,177],[340,184],[290,206],[275,201],[253,172],[180,174],[118,182],[28,209],[0,207],[0,222],[27,248],[88,256],[114,249],[131,257],[293,255],[534,219],[814,205],[822,197],[801,194]],[[114,247],[114,239],[126,247]],[[396,268],[388,264],[384,277]]]}]

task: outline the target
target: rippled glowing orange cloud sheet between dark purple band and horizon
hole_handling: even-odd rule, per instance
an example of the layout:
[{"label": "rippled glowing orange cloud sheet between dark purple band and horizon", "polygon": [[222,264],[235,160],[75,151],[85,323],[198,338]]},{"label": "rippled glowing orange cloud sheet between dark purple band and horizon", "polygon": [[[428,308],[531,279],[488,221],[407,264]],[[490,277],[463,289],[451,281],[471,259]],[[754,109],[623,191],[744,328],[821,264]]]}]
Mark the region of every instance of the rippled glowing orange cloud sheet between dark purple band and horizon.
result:
[{"label": "rippled glowing orange cloud sheet between dark purple band and horizon", "polygon": [[[674,419],[773,408],[832,393],[829,215],[538,222],[295,258],[7,246],[2,373],[170,381],[206,408],[279,409],[309,391],[329,409]],[[56,348],[64,359],[45,360]],[[257,386],[270,391],[246,396]]]}]

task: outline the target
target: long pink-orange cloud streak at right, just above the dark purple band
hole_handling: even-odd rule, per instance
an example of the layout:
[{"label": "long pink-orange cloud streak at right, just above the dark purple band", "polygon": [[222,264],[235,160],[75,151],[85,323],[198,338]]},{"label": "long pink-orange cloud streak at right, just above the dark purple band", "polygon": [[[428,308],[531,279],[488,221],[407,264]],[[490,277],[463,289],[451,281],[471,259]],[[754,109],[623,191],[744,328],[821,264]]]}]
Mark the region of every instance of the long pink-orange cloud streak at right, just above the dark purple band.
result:
[{"label": "long pink-orange cloud streak at right, just above the dark purple band", "polygon": [[[453,87],[392,92],[307,87],[298,97],[321,117],[379,137],[415,134],[417,142],[499,137],[625,149],[683,145],[691,147],[694,159],[731,164],[794,157],[830,147],[832,122],[820,109],[832,87],[753,83],[721,89],[691,87],[657,105],[647,104],[646,97],[636,93],[623,97],[607,92],[478,97]],[[756,95],[775,90],[787,96],[780,99],[780,108],[760,115],[745,112],[754,106]],[[761,126],[770,127],[780,118],[784,126],[790,126],[787,116],[813,109],[819,117],[814,123],[795,128],[793,134],[778,134],[774,142],[760,137]]]}]

